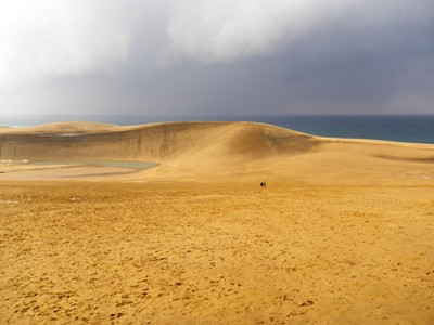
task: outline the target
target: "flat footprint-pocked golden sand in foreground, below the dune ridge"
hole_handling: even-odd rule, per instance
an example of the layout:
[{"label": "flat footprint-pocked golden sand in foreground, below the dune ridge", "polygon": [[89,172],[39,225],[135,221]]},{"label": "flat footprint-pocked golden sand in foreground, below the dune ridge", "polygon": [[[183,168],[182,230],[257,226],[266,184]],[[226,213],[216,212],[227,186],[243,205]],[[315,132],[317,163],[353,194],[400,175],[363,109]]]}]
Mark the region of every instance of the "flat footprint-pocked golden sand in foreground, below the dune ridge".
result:
[{"label": "flat footprint-pocked golden sand in foreground, below the dune ridge", "polygon": [[433,324],[433,186],[0,185],[2,324]]}]

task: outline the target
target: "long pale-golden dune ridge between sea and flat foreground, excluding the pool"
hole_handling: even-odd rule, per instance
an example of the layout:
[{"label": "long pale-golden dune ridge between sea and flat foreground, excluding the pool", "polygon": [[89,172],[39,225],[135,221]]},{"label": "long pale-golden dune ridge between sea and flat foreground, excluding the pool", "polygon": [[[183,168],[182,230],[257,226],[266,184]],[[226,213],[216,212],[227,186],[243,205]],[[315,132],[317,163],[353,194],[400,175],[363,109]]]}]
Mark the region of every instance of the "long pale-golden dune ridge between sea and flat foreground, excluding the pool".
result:
[{"label": "long pale-golden dune ridge between sea and flat foreground, excluding the pool", "polygon": [[[218,181],[225,178],[371,182],[434,179],[434,147],[386,141],[319,138],[253,122],[169,122],[119,127],[60,122],[3,129],[0,160],[143,160],[135,173],[77,172],[99,179]],[[56,178],[28,166],[0,167],[0,179]],[[47,169],[47,168],[46,168]],[[13,171],[13,173],[12,173]],[[74,170],[69,169],[71,177]],[[108,176],[107,176],[108,173]],[[60,178],[63,178],[64,171]],[[420,177],[418,177],[418,174]],[[408,177],[411,176],[411,177]]]}]

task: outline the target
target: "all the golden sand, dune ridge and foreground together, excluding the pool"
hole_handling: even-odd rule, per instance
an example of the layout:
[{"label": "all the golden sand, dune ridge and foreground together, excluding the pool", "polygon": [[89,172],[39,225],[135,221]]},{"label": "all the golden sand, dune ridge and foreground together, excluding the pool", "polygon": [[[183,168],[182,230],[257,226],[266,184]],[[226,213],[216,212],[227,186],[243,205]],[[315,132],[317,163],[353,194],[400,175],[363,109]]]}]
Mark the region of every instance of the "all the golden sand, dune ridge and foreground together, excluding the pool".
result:
[{"label": "all the golden sand, dune ridge and foreground together, excluding the pool", "polygon": [[434,323],[432,145],[252,123],[1,132],[1,160],[161,164],[0,165],[2,324]]}]

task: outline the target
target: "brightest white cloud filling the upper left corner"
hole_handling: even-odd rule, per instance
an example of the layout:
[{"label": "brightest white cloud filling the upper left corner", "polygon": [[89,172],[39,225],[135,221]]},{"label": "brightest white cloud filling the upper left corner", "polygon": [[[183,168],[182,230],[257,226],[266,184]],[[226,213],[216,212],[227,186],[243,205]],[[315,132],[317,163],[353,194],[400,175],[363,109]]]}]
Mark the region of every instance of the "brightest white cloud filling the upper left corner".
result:
[{"label": "brightest white cloud filling the upper left corner", "polygon": [[129,3],[5,0],[0,3],[0,84],[82,75],[128,56]]}]

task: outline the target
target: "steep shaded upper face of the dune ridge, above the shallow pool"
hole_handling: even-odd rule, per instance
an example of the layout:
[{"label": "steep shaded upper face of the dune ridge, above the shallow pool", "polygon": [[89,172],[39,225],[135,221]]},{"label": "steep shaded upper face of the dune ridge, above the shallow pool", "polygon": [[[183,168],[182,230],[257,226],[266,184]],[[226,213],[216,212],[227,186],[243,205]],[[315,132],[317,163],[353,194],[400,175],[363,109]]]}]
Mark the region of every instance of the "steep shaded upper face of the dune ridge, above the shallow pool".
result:
[{"label": "steep shaded upper face of the dune ridge, above the shallow pool", "polygon": [[0,157],[10,160],[166,161],[197,154],[252,159],[299,154],[318,145],[311,135],[250,122],[171,122],[133,127],[60,122],[8,130],[0,136]]}]

